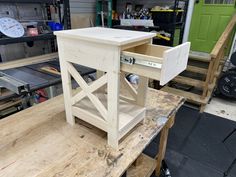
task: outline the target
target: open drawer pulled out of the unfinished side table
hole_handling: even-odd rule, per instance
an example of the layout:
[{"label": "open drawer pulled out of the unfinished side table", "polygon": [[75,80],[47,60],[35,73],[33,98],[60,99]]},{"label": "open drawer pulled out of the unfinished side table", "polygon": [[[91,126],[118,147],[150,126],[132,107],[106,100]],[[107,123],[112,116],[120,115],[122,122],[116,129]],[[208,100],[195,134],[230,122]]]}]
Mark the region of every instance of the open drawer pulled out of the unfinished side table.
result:
[{"label": "open drawer pulled out of the unfinished side table", "polygon": [[144,44],[121,53],[121,70],[165,85],[187,67],[190,42],[176,47]]}]

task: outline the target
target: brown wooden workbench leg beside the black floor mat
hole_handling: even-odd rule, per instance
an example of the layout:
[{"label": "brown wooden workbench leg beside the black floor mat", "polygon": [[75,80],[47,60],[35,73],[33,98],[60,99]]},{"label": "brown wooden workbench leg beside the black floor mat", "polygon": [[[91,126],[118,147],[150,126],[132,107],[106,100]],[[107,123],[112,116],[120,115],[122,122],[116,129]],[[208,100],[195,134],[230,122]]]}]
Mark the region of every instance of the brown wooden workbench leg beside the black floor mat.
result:
[{"label": "brown wooden workbench leg beside the black floor mat", "polygon": [[161,172],[161,165],[162,165],[162,160],[165,157],[166,153],[166,145],[167,145],[167,140],[168,140],[168,133],[169,129],[173,126],[175,120],[175,116],[172,116],[166,125],[163,127],[161,131],[161,137],[160,137],[160,143],[159,143],[159,152],[157,155],[157,166],[156,166],[156,176],[160,176]]}]

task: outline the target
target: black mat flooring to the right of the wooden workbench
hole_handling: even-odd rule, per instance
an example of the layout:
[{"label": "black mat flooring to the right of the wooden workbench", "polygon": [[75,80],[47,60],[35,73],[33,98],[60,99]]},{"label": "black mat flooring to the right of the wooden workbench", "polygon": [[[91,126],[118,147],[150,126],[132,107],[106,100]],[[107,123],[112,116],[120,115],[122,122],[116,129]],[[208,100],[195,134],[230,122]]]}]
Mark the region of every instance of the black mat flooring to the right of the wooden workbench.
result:
[{"label": "black mat flooring to the right of the wooden workbench", "polygon": [[[167,144],[172,177],[236,177],[236,122],[183,106]],[[157,152],[158,137],[144,151]]]}]

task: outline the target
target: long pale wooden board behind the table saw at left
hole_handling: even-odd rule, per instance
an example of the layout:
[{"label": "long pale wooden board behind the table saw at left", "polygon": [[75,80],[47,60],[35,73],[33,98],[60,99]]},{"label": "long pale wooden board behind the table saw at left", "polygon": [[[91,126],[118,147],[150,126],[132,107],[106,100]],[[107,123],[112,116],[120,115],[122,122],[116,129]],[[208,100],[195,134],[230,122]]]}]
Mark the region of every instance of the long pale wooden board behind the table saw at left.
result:
[{"label": "long pale wooden board behind the table saw at left", "polygon": [[33,65],[33,64],[37,64],[37,63],[43,63],[43,62],[50,61],[50,60],[53,60],[56,58],[58,58],[58,53],[50,53],[50,54],[39,55],[39,56],[35,56],[35,57],[17,59],[14,61],[1,63],[0,70],[17,68],[17,67],[22,67],[22,66],[27,66],[27,65]]}]

